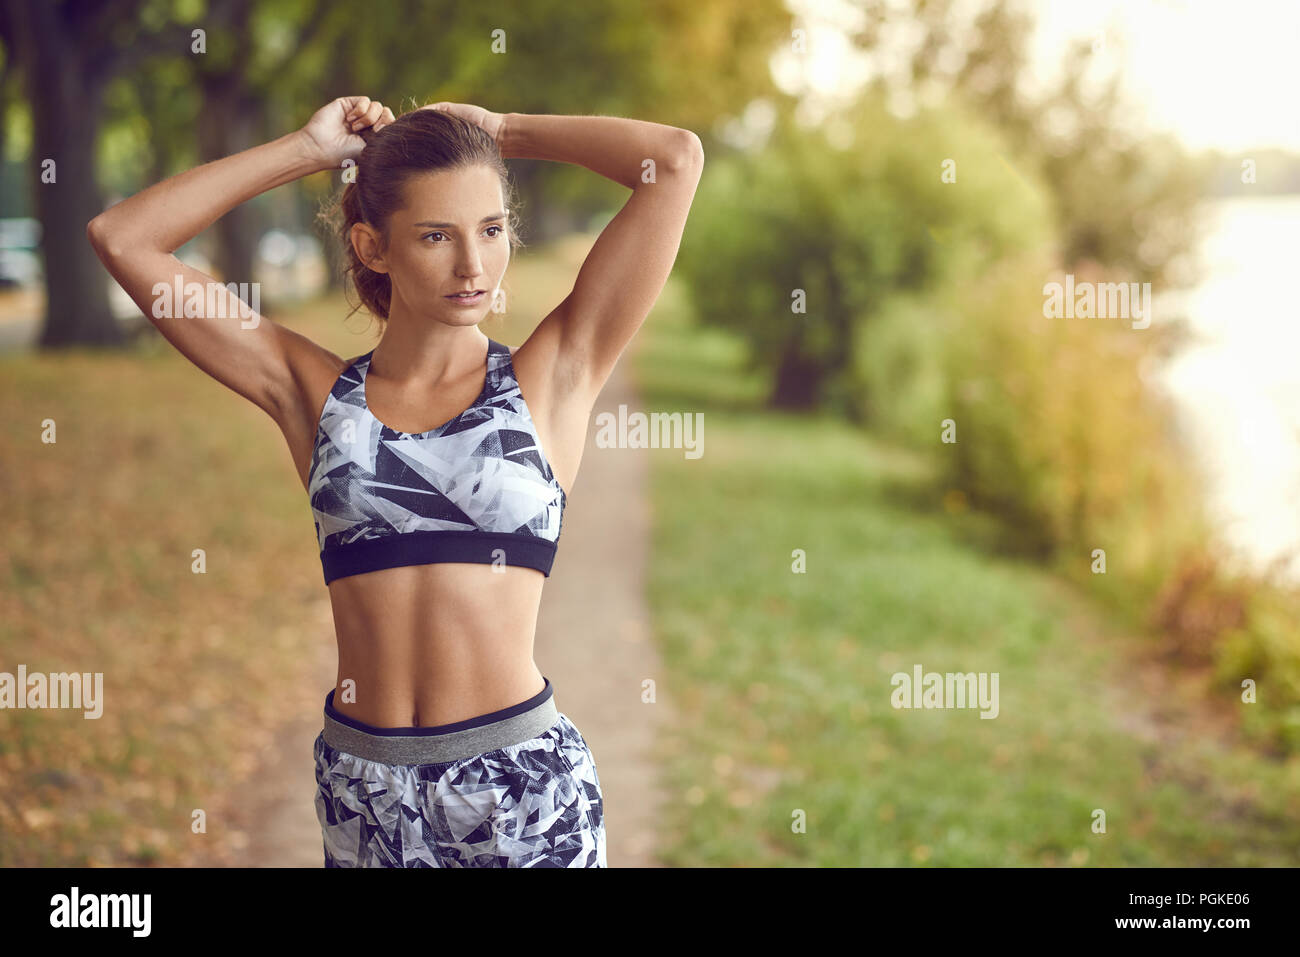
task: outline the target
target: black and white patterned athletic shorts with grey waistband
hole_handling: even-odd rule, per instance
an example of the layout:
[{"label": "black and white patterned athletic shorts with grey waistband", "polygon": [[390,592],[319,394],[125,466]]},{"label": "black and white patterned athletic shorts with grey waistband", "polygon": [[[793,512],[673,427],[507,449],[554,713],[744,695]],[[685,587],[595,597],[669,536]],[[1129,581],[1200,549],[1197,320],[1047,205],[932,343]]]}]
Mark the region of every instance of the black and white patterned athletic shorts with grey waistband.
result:
[{"label": "black and white patterned athletic shorts with grey waistband", "polygon": [[325,696],[316,818],[326,867],[606,867],[601,779],[546,688],[429,728],[376,728]]}]

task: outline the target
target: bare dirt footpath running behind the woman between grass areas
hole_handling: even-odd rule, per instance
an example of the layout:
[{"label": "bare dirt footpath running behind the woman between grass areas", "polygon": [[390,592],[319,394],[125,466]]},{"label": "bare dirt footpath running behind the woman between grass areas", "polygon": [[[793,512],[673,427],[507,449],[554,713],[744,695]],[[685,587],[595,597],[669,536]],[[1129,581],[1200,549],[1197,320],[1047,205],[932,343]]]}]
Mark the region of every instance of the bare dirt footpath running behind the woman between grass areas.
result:
[{"label": "bare dirt footpath running behind the woman between grass areas", "polygon": [[[597,416],[620,403],[638,406],[628,367],[636,341],[615,367],[592,412],[586,451],[564,510],[560,549],[542,594],[534,658],[595,755],[604,796],[611,867],[654,867],[659,792],[651,746],[668,720],[668,702],[641,702],[641,683],[659,677],[650,641],[644,579],[649,553],[649,503],[644,451],[599,449]],[[328,598],[312,609],[320,654],[291,679],[295,697],[324,702],[337,655]],[[286,680],[290,680],[286,677]],[[244,866],[320,867],[321,833],[313,797],[312,742],[321,729],[320,703],[274,736],[252,780],[255,804],[239,805],[248,832]]]}]

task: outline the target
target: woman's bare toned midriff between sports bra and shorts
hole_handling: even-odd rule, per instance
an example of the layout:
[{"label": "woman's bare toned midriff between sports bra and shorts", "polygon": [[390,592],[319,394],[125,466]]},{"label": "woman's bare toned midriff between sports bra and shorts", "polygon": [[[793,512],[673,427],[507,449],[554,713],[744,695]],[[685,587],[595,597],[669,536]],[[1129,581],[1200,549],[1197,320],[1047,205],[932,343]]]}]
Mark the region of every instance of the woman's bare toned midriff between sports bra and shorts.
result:
[{"label": "woman's bare toned midriff between sports bra and shorts", "polygon": [[533,662],[545,581],[536,568],[468,563],[335,579],[334,707],[377,728],[407,728],[526,701],[545,688]]}]

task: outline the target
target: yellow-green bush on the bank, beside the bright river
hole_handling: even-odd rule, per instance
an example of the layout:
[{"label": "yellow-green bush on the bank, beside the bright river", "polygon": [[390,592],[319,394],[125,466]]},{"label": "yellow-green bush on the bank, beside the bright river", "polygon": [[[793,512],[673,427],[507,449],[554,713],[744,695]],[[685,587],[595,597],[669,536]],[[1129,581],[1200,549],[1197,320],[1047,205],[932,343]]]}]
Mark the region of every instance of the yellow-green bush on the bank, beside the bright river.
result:
[{"label": "yellow-green bush on the bank, beside the bright river", "polygon": [[[1180,467],[1162,398],[1144,371],[1161,343],[1123,319],[1044,316],[1040,255],[1008,260],[959,293],[936,298],[950,334],[941,350],[941,447],[950,488],[1006,520],[1018,547],[1074,555],[1087,567],[1106,550],[1108,575],[1150,593],[1153,570],[1204,542],[1202,489]],[[1082,272],[1080,282],[1098,281]],[[931,421],[937,439],[940,425]],[[1144,584],[1143,584],[1144,583]]]}]

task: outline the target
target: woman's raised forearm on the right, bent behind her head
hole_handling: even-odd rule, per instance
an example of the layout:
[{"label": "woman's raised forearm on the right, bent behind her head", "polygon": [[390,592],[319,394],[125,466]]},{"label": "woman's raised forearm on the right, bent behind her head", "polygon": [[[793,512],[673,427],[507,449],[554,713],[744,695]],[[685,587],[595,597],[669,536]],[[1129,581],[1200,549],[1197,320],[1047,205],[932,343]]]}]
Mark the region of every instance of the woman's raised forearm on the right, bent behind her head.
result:
[{"label": "woman's raised forearm on the right, bent behind her head", "polygon": [[645,120],[507,113],[499,147],[506,159],[573,163],[634,190],[646,160],[656,170],[679,169],[693,161],[698,142],[689,130]]}]

